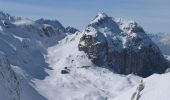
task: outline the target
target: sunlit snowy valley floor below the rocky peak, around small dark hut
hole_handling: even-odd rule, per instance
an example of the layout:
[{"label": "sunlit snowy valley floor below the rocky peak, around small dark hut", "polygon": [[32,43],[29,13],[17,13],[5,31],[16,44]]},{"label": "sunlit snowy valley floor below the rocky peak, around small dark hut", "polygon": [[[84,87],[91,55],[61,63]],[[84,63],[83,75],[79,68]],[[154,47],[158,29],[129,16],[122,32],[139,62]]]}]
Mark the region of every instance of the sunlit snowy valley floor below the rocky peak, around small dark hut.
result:
[{"label": "sunlit snowy valley floor below the rocky peak, around small dark hut", "polygon": [[[133,87],[141,78],[121,76],[93,65],[77,45],[82,34],[67,36],[48,49],[49,76],[35,80],[35,88],[49,100],[105,100]],[[64,67],[69,74],[61,74]]]}]

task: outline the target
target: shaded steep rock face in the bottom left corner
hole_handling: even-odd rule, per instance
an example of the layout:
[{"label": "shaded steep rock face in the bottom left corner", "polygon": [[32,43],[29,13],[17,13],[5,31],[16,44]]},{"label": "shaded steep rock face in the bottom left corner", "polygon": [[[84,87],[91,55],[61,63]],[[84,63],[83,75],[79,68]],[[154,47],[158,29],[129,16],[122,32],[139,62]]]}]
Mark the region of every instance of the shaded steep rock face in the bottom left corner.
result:
[{"label": "shaded steep rock face in the bottom left corner", "polygon": [[0,52],[0,98],[2,100],[20,100],[19,81],[8,59]]}]

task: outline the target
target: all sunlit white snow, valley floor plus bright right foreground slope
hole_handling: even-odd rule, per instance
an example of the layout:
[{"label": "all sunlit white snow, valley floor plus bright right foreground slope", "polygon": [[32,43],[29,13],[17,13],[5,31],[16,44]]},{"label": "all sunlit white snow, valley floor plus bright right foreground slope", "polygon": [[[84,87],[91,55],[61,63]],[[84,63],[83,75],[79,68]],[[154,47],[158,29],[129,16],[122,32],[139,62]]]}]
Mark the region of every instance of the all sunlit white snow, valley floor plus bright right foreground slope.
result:
[{"label": "all sunlit white snow, valley floor plus bright right foreground slope", "polygon": [[[73,40],[79,40],[79,35],[67,36],[48,49],[46,60],[53,70],[47,70],[50,74],[45,80],[34,80],[40,94],[49,100],[131,100],[143,80],[145,88],[139,100],[168,100],[170,73],[141,78],[97,67],[76,48],[78,41]],[[70,74],[61,74],[64,67],[71,70]]]}]

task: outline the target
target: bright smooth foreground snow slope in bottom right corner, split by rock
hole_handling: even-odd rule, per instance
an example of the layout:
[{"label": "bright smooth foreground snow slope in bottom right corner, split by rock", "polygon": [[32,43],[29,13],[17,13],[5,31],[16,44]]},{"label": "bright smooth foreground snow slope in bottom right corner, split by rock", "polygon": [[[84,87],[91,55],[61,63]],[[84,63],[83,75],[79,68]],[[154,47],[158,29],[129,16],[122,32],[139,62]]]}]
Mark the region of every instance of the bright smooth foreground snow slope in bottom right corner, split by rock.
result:
[{"label": "bright smooth foreground snow slope in bottom right corner, split by rock", "polygon": [[[154,74],[144,80],[145,88],[141,91],[139,100],[169,100],[170,93],[170,73],[158,75]],[[131,100],[137,85],[126,91],[122,95],[112,100]]]}]

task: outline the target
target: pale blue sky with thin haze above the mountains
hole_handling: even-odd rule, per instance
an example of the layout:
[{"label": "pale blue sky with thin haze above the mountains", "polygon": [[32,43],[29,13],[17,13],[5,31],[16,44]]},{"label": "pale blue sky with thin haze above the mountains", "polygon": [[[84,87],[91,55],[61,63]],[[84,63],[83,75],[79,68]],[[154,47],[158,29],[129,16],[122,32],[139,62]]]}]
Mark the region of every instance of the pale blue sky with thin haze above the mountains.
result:
[{"label": "pale blue sky with thin haze above the mountains", "polygon": [[79,29],[105,12],[135,20],[148,32],[170,33],[170,0],[0,0],[0,10],[34,20],[57,19]]}]

